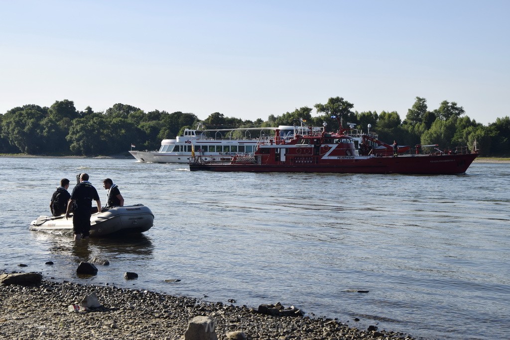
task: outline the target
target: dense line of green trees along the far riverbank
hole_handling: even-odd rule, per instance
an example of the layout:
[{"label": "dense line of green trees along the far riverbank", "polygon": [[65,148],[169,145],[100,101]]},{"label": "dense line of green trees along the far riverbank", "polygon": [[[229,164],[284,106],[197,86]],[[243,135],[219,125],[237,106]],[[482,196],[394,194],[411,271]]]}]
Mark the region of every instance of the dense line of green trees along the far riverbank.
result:
[{"label": "dense line of green trees along the far riverbank", "polygon": [[[439,108],[429,110],[425,98],[416,97],[402,121],[396,111],[358,112],[342,97],[331,97],[314,108],[319,116],[312,117],[312,108],[302,107],[282,115],[269,115],[267,120],[254,121],[225,117],[219,112],[200,120],[193,113],[166,111],[144,112],[131,105],[117,103],[104,112],[87,107],[78,111],[71,100],[55,101],[52,106],[34,104],[16,107],[0,115],[0,153],[32,155],[112,155],[129,150],[159,149],[162,139],[174,139],[184,128],[202,123],[204,128],[270,127],[296,125],[322,126],[338,130],[336,117],[342,117],[355,128],[370,130],[385,142],[397,140],[400,145],[439,144],[441,148],[475,147],[481,155],[510,155],[510,118],[497,118],[484,126],[470,119],[463,107],[444,100]],[[253,135],[252,135],[253,137]]]}]

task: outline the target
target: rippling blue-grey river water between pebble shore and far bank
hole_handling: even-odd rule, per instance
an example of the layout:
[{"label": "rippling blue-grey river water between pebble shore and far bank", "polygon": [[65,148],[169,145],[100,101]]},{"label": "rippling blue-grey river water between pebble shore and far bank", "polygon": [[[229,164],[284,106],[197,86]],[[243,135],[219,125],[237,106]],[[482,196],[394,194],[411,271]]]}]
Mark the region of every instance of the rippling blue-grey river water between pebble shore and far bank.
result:
[{"label": "rippling blue-grey river water between pebble shore and far bank", "polygon": [[[131,159],[0,160],[1,271],[252,307],[282,302],[353,327],[427,339],[510,334],[510,164],[410,176],[190,172],[187,165]],[[154,227],[78,245],[71,236],[29,231],[31,220],[49,213],[60,178],[69,178],[72,190],[81,172],[104,202],[102,180],[112,178],[125,204],[151,208]],[[95,256],[110,266],[78,277],[77,264]],[[125,272],[139,278],[126,281]]]}]

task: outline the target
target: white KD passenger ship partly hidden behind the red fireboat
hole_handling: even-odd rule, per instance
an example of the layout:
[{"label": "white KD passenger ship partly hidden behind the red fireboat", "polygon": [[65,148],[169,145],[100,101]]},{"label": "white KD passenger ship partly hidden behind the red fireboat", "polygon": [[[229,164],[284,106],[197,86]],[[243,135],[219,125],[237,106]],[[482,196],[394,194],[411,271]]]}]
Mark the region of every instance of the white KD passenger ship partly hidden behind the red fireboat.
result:
[{"label": "white KD passenger ship partly hidden behind the red fireboat", "polygon": [[[277,127],[288,138],[294,134],[294,126]],[[230,162],[236,154],[253,155],[260,133],[273,134],[276,127],[253,127],[236,129],[185,129],[183,136],[176,139],[164,139],[157,151],[136,151],[130,153],[139,162],[144,163],[189,163],[193,155],[214,162]],[[244,138],[234,138],[234,132],[240,131]],[[253,134],[253,137],[251,135]],[[287,136],[286,136],[287,137]]]}]

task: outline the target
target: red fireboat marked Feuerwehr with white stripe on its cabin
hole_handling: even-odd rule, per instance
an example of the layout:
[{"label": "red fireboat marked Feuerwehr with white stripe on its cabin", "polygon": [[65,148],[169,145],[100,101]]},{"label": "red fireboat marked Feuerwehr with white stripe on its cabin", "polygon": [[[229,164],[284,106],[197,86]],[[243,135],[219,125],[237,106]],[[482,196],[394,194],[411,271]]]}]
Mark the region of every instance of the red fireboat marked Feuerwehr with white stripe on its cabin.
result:
[{"label": "red fireboat marked Feuerwehr with white stripe on its cabin", "polygon": [[[324,124],[325,125],[325,124]],[[340,122],[340,126],[342,123]],[[438,145],[390,145],[349,129],[326,133],[324,127],[294,126],[292,138],[280,130],[262,136],[253,155],[237,154],[228,163],[190,159],[190,170],[244,172],[322,172],[368,174],[463,174],[478,156],[467,147],[440,150]],[[422,148],[429,152],[420,152]]]}]

